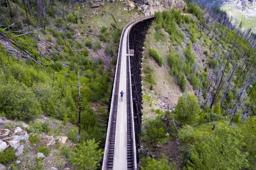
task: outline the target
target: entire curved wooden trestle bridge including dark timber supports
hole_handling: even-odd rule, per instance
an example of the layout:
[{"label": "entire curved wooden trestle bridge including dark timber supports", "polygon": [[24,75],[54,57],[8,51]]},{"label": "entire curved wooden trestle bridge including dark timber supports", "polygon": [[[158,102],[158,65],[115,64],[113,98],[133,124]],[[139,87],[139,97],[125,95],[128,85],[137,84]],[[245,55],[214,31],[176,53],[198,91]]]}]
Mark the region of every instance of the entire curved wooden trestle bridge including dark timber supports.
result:
[{"label": "entire curved wooden trestle bridge including dark timber supports", "polygon": [[[122,32],[108,107],[102,170],[136,170],[142,116],[141,63],[153,17],[128,23]],[[124,92],[121,100],[120,92]]]}]

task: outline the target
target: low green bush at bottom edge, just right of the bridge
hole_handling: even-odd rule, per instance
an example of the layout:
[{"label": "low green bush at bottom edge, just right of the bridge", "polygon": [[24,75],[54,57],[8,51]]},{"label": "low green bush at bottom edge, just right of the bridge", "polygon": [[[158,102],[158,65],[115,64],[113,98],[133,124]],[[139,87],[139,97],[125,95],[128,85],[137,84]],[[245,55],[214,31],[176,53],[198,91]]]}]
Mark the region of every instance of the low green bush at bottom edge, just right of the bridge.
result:
[{"label": "low green bush at bottom edge, just right of the bridge", "polygon": [[141,170],[176,170],[176,168],[176,163],[169,164],[164,154],[159,161],[149,156],[146,159],[142,158]]}]

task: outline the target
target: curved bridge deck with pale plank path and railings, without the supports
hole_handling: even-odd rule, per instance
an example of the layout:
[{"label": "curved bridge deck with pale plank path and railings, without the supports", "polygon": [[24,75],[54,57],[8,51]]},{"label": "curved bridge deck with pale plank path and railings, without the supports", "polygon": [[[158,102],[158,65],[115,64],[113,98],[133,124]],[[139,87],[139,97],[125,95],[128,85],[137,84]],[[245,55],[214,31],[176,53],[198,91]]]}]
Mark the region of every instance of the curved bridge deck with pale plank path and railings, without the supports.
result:
[{"label": "curved bridge deck with pale plank path and railings, without the supports", "polygon": [[[102,170],[136,170],[136,145],[129,57],[129,32],[132,26],[145,17],[128,23],[121,35]],[[123,101],[119,93],[125,93]]]}]

